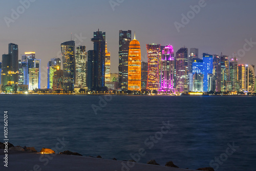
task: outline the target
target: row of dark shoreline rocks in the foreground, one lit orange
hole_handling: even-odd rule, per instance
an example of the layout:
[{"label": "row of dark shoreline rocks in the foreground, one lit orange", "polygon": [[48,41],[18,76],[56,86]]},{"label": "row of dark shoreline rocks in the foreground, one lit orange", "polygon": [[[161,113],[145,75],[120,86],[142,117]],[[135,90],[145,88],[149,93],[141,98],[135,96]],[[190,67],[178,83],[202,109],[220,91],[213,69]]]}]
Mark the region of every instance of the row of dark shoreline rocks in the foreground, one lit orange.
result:
[{"label": "row of dark shoreline rocks in the foreground, one lit orange", "polygon": [[[40,152],[37,152],[36,149],[34,147],[27,147],[27,146],[14,146],[13,144],[9,143],[2,143],[0,142],[0,149],[8,149],[8,151],[13,151],[13,152],[27,152],[27,153],[41,153],[41,154],[55,154],[55,152],[50,149],[50,148],[42,148],[40,150]],[[71,152],[71,151],[64,151],[64,152],[60,152],[59,154],[61,155],[74,155],[74,156],[82,156],[81,154],[79,153],[74,153],[74,152]],[[93,157],[93,156],[86,156],[86,157]],[[93,157],[93,158],[101,158],[101,156],[97,156],[97,157]],[[117,160],[116,158],[113,158],[112,160]],[[134,160],[122,160],[122,161],[125,161],[125,162],[135,162]],[[146,164],[152,164],[152,165],[160,165],[158,164],[155,160],[150,160],[150,161],[147,161]],[[173,163],[173,161],[168,161],[166,162],[165,164],[166,167],[175,167],[175,168],[179,168],[177,165],[175,165]],[[186,168],[188,169],[188,168]],[[214,168],[212,167],[202,167],[202,168],[198,168],[197,170],[205,170],[205,171],[215,171]]]}]

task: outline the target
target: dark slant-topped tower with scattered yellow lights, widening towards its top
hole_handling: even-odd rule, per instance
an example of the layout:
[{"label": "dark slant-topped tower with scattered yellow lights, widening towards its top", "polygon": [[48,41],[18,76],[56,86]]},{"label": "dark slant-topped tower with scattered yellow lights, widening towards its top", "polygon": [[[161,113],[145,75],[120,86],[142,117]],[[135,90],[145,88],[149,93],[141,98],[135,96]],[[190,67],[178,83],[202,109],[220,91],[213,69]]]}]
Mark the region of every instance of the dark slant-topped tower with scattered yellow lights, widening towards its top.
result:
[{"label": "dark slant-topped tower with scattered yellow lights, widening towards its top", "polygon": [[66,41],[61,44],[62,65],[64,74],[64,89],[74,90],[75,78],[75,41]]}]

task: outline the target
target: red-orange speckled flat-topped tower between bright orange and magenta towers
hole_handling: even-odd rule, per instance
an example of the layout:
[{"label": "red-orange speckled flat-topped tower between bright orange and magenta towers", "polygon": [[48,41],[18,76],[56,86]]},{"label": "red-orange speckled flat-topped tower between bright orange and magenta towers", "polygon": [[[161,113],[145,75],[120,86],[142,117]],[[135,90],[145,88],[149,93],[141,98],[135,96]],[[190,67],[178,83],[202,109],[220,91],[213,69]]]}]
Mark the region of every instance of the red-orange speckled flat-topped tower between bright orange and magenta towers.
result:
[{"label": "red-orange speckled flat-topped tower between bright orange and magenta towers", "polygon": [[159,89],[159,58],[160,44],[147,44],[147,86],[146,90],[153,91]]}]

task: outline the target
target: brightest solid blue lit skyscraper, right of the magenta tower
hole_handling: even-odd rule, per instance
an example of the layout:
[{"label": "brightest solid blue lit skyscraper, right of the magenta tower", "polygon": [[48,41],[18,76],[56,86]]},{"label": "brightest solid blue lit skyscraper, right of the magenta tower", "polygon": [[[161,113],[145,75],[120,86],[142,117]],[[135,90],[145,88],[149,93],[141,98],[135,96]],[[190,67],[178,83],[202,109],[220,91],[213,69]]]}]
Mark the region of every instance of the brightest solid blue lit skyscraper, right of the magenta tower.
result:
[{"label": "brightest solid blue lit skyscraper, right of the magenta tower", "polygon": [[204,74],[204,92],[208,91],[208,74],[212,74],[213,58],[212,55],[203,53],[203,74]]}]

